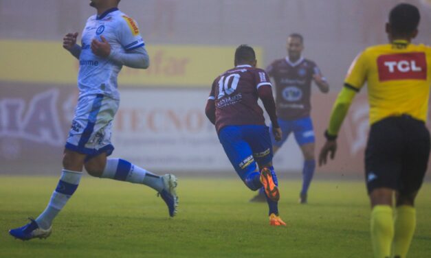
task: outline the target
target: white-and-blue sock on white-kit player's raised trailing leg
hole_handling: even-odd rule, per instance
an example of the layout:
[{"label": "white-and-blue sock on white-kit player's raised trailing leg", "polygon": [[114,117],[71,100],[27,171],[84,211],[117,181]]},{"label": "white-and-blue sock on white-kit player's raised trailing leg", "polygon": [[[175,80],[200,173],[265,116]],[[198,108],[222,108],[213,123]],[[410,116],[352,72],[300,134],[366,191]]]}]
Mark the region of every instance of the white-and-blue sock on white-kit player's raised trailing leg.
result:
[{"label": "white-and-blue sock on white-kit player's raised trailing leg", "polygon": [[160,176],[137,167],[129,161],[124,161],[124,159],[108,159],[101,178],[144,184],[159,192],[164,189],[164,183]]}]

